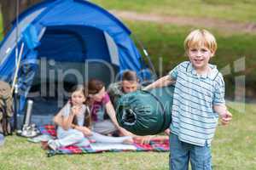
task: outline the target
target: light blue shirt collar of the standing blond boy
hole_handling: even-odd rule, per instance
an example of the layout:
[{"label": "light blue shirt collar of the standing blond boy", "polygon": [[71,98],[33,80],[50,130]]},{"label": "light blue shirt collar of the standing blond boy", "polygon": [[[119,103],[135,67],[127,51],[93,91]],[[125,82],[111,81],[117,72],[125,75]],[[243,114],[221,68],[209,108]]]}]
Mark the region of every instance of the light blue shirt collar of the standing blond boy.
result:
[{"label": "light blue shirt collar of the standing blond boy", "polygon": [[211,78],[211,79],[214,79],[217,74],[218,74],[218,70],[217,70],[217,66],[216,65],[211,65],[211,64],[208,64],[211,68],[211,71],[210,72],[207,72],[207,74],[204,74],[204,75],[199,75],[197,74],[197,72],[195,71],[195,68],[194,66],[192,65],[191,62],[189,62],[189,65],[187,67],[187,72],[190,72],[192,74],[192,76],[194,77],[201,77],[201,78]]}]

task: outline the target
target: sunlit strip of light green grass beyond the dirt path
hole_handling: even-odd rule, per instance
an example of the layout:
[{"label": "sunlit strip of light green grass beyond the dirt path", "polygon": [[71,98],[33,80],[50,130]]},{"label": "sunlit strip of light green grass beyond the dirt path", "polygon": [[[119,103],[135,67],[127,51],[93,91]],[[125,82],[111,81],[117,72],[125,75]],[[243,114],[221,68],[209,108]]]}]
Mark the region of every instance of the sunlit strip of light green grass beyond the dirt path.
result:
[{"label": "sunlit strip of light green grass beyond the dirt path", "polygon": [[236,21],[256,21],[254,0],[92,0],[108,9]]}]

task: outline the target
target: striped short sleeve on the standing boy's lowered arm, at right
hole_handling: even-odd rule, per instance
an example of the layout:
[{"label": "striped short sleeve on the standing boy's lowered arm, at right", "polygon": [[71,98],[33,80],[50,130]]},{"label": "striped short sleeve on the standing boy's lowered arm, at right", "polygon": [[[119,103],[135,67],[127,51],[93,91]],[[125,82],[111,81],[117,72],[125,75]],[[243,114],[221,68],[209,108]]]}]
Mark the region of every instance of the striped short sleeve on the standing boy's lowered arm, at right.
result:
[{"label": "striped short sleeve on the standing boy's lowered arm, at right", "polygon": [[218,73],[218,77],[215,79],[213,105],[225,104],[224,95],[225,95],[224,78],[221,73]]}]

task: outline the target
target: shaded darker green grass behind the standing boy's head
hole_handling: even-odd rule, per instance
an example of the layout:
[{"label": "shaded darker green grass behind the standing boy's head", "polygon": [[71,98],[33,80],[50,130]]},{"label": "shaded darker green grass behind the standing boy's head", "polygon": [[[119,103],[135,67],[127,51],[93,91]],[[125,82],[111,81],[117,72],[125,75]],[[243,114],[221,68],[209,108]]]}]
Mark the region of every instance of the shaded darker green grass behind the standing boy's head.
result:
[{"label": "shaded darker green grass behind the standing boy's head", "polygon": [[[125,23],[131,29],[133,35],[144,43],[159,74],[163,72],[162,75],[165,75],[167,71],[172,70],[181,61],[188,60],[184,55],[183,41],[189,31],[195,28],[152,22],[125,21]],[[218,42],[218,50],[211,63],[218,65],[218,70],[226,65],[230,65],[231,68],[231,74],[224,77],[228,87],[227,94],[229,96],[233,95],[234,78],[240,75],[246,76],[247,89],[253,90],[253,84],[256,82],[256,71],[254,69],[256,67],[256,35],[239,32],[229,35],[218,30],[211,29],[210,31],[215,35]],[[241,57],[246,57],[246,71],[235,72],[234,61],[241,59]],[[162,68],[160,65],[163,65]]]}]

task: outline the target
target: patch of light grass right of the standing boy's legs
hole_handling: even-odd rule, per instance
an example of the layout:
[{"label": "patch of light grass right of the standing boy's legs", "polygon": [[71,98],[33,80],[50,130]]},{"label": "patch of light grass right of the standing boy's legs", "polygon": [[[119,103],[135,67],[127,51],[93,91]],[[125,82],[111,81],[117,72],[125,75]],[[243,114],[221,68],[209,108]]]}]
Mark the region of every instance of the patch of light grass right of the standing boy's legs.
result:
[{"label": "patch of light grass right of the standing boy's legs", "polygon": [[[236,104],[233,104],[233,107]],[[246,112],[232,111],[233,122],[218,127],[212,143],[215,169],[255,169],[256,105],[246,105]]]}]

